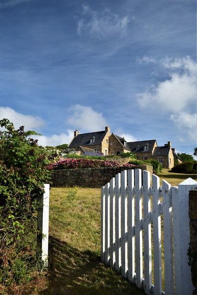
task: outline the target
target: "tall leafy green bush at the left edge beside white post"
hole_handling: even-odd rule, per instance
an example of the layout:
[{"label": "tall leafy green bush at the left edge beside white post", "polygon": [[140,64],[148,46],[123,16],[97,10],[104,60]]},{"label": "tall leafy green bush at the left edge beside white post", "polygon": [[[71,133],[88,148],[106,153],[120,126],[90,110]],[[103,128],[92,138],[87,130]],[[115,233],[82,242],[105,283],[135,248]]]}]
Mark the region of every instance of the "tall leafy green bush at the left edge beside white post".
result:
[{"label": "tall leafy green bush at the left edge beside white post", "polygon": [[0,126],[0,284],[9,288],[30,280],[39,265],[36,210],[51,172],[48,154],[24,126],[15,130],[7,119]]}]

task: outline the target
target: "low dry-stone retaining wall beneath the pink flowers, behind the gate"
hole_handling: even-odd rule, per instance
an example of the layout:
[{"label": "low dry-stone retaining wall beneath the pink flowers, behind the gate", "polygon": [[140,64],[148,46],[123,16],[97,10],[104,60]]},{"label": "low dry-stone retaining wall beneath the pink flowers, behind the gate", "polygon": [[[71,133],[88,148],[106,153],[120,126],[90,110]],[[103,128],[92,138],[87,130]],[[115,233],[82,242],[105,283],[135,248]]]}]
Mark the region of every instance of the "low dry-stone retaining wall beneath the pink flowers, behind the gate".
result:
[{"label": "low dry-stone retaining wall beneath the pink flowers, behind the gate", "polygon": [[[138,166],[141,170],[147,170],[151,174],[153,167]],[[82,187],[101,187],[115,177],[123,170],[129,170],[131,167],[104,167],[104,168],[84,168],[84,169],[66,169],[55,170],[52,177],[52,186],[82,186]]]}]

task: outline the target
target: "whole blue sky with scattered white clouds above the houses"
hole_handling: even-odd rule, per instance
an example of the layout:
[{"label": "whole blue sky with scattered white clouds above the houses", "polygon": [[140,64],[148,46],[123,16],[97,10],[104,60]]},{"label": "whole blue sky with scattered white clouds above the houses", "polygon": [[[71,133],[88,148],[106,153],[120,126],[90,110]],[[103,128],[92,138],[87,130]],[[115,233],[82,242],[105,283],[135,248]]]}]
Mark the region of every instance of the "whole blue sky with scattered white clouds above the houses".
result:
[{"label": "whole blue sky with scattered white clouds above the houses", "polygon": [[1,0],[0,118],[197,146],[196,0]]}]

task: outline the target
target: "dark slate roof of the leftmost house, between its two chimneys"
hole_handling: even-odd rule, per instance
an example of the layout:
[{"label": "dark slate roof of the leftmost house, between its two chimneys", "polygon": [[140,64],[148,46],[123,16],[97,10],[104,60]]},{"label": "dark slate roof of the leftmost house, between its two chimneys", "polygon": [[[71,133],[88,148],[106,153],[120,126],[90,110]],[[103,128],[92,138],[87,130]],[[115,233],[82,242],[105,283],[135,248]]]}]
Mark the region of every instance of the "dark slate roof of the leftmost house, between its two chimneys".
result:
[{"label": "dark slate roof of the leftmost house, between its two chimneys", "polygon": [[[79,146],[95,146],[100,145],[106,132],[105,131],[98,131],[98,132],[90,132],[90,133],[83,133],[78,134],[76,137],[74,137],[71,141],[71,143],[68,145],[68,148],[74,148]],[[94,143],[90,143],[90,139],[95,137]]]}]

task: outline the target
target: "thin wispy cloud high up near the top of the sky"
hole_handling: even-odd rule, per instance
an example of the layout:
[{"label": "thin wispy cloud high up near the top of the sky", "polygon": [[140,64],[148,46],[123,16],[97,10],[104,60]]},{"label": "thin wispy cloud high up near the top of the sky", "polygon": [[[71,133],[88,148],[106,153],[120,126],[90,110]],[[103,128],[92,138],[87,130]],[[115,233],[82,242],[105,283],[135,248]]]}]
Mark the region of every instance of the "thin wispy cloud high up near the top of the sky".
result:
[{"label": "thin wispy cloud high up near the top of the sky", "polygon": [[103,39],[114,34],[125,34],[130,22],[128,15],[120,17],[109,9],[105,9],[99,15],[88,5],[83,6],[85,17],[78,22],[77,33],[80,35],[83,31],[90,35]]}]

